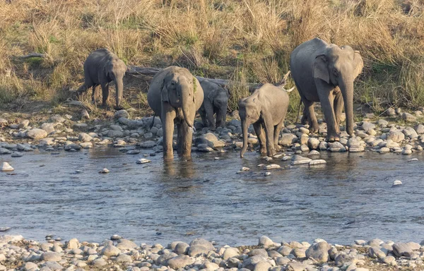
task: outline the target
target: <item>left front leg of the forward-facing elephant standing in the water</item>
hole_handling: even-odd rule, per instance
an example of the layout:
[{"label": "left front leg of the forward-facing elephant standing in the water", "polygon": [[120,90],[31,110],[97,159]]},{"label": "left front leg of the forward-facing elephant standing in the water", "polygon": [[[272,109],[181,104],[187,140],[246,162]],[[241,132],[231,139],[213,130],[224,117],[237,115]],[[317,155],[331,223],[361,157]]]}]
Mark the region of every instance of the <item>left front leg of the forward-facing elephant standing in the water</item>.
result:
[{"label": "left front leg of the forward-facing elephant standing in the water", "polygon": [[174,150],[172,148],[172,135],[174,134],[174,119],[176,113],[170,104],[162,104],[162,114],[160,120],[163,128],[163,159],[174,159]]}]

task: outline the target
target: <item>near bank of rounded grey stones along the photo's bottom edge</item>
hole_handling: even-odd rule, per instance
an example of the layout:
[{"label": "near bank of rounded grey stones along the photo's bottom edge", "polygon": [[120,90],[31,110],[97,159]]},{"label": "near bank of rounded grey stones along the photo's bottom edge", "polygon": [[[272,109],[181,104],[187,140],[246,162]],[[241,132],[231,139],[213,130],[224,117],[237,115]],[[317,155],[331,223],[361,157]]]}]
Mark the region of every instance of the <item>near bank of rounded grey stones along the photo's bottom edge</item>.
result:
[{"label": "near bank of rounded grey stones along the photo's bottom edge", "polygon": [[257,246],[231,247],[194,239],[164,247],[117,235],[102,243],[52,237],[37,242],[23,236],[0,236],[0,270],[424,270],[424,246],[413,242],[355,240],[342,246],[322,239],[276,243],[261,236]]}]

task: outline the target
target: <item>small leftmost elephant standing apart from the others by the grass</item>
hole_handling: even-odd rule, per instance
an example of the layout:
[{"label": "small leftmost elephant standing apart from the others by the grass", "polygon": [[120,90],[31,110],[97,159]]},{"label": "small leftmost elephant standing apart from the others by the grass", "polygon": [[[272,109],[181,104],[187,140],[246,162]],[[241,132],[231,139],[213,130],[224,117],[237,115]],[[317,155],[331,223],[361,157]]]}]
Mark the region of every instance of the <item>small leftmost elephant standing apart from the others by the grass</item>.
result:
[{"label": "small leftmost elephant standing apart from the others by the grass", "polygon": [[95,104],[98,97],[98,86],[102,87],[102,104],[108,106],[109,83],[114,82],[116,88],[116,107],[121,108],[122,96],[124,92],[124,78],[126,65],[108,49],[102,48],[92,52],[84,62],[84,85],[78,89],[78,94],[86,92],[88,88],[93,88],[91,100]]}]

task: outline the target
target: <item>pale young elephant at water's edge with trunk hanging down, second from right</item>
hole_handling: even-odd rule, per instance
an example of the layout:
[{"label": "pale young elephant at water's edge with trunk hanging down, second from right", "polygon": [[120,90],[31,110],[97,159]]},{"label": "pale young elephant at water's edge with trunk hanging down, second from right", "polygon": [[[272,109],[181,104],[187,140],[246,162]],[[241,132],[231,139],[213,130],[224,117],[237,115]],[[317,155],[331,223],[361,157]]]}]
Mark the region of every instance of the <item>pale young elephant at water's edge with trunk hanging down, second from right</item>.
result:
[{"label": "pale young elephant at water's edge with trunk hanging down, second from right", "polygon": [[247,128],[250,124],[253,124],[257,134],[261,155],[276,155],[278,134],[284,126],[288,102],[288,93],[283,88],[271,84],[265,84],[249,97],[240,99],[238,104],[243,133],[240,157],[243,157],[247,150]]}]

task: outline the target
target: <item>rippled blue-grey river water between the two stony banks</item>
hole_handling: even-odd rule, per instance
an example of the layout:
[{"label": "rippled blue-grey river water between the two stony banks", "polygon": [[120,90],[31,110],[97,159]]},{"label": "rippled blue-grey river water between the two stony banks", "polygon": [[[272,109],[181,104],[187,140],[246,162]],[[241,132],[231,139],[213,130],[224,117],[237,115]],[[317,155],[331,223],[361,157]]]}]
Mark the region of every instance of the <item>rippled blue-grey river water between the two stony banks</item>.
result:
[{"label": "rippled blue-grey river water between the two stony banks", "polygon": [[[325,167],[266,177],[253,152],[193,156],[164,164],[159,154],[143,165],[136,164],[142,153],[113,148],[0,157],[15,168],[0,173],[0,227],[40,241],[46,234],[163,244],[202,236],[230,245],[256,244],[262,234],[344,244],[424,239],[423,156],[324,153]],[[111,172],[99,174],[104,167]],[[241,167],[252,170],[236,174]],[[404,185],[391,188],[395,179]]]}]

